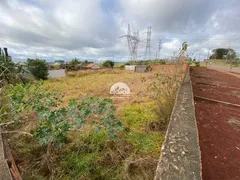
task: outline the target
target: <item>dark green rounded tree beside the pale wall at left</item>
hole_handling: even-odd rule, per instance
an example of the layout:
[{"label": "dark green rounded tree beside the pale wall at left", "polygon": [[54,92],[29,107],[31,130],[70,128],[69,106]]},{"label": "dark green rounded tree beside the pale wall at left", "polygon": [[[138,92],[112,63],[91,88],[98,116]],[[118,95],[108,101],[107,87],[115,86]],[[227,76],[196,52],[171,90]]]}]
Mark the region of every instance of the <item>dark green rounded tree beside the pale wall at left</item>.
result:
[{"label": "dark green rounded tree beside the pale wall at left", "polygon": [[37,80],[48,78],[48,64],[45,60],[28,59],[27,68]]}]

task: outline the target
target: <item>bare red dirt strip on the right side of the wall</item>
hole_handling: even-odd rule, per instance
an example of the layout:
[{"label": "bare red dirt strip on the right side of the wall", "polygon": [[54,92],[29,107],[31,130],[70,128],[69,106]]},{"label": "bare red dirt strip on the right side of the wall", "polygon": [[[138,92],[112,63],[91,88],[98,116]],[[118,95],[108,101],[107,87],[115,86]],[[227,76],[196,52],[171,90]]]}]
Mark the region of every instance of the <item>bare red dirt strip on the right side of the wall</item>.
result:
[{"label": "bare red dirt strip on the right side of the wall", "polygon": [[[191,67],[193,94],[240,105],[240,79]],[[240,179],[240,108],[195,98],[203,180]],[[229,122],[230,121],[230,122]]]}]

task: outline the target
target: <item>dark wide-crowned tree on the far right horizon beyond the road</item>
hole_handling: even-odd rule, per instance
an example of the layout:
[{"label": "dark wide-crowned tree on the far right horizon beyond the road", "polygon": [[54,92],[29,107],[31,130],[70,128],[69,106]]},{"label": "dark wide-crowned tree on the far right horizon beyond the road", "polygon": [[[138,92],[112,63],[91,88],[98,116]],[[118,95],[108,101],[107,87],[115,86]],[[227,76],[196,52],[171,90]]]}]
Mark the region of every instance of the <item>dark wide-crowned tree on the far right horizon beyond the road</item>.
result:
[{"label": "dark wide-crowned tree on the far right horizon beyond the road", "polygon": [[235,59],[236,52],[233,49],[217,48],[212,50],[213,54],[210,59]]}]

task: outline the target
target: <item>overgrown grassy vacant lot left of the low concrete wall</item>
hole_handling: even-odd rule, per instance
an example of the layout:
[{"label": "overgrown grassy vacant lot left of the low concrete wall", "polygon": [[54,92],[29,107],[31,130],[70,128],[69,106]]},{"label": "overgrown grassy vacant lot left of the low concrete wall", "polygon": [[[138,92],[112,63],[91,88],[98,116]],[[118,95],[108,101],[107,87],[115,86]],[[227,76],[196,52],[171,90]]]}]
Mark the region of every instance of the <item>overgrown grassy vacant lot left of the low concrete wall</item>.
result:
[{"label": "overgrown grassy vacant lot left of the low concrete wall", "polygon": [[[73,131],[68,142],[52,153],[47,168],[42,163],[46,152],[35,140],[12,136],[11,147],[24,179],[153,179],[174,103],[174,98],[167,97],[175,97],[182,75],[182,67],[165,65],[154,66],[148,73],[120,69],[69,72],[65,78],[45,81],[48,90],[64,95],[61,106],[87,95],[112,99],[124,131],[118,141],[105,132],[94,132],[88,128],[91,124],[84,131]],[[110,95],[116,82],[126,83],[131,95]],[[31,124],[34,121],[21,128],[31,132]]]}]

